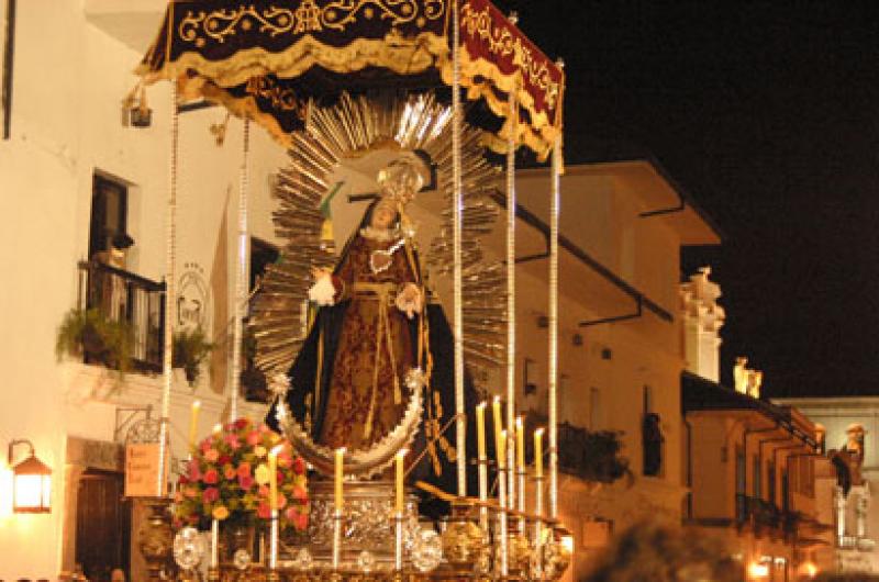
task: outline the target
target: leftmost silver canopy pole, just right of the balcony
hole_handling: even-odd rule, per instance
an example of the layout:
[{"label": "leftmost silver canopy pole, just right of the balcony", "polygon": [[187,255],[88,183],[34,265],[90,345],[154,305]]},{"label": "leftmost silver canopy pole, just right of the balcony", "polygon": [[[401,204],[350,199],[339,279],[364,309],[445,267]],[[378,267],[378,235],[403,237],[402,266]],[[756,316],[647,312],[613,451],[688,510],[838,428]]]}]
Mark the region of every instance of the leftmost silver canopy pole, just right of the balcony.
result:
[{"label": "leftmost silver canopy pole, just right of the balcony", "polygon": [[156,496],[165,496],[165,466],[168,462],[168,417],[171,405],[171,381],[174,378],[174,300],[177,260],[177,159],[180,146],[180,115],[177,111],[177,83],[171,82],[171,143],[168,176],[168,208],[165,237],[165,334],[162,349],[162,417],[158,434],[158,475]]}]

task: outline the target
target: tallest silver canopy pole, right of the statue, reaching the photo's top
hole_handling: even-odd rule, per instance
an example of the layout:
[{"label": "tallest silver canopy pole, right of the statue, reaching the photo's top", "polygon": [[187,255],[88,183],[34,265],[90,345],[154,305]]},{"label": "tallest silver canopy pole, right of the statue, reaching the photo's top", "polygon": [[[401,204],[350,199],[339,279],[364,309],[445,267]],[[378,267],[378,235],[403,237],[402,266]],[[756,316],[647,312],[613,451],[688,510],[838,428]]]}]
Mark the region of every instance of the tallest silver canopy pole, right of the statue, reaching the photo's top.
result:
[{"label": "tallest silver canopy pole, right of the statue, reaching the photo's top", "polygon": [[467,495],[467,411],[464,403],[464,312],[461,268],[461,110],[460,110],[460,14],[459,2],[452,2],[452,246],[454,254],[453,294],[455,302],[455,447],[457,452],[458,495]]}]

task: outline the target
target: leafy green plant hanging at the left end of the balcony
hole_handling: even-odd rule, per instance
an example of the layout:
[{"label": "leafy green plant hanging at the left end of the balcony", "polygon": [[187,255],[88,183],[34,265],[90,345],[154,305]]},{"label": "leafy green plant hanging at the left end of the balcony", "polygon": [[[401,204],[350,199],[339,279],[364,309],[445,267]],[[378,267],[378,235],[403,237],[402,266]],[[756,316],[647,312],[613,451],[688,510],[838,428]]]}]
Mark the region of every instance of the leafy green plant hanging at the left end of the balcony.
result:
[{"label": "leafy green plant hanging at the left end of the balcony", "polygon": [[64,316],[55,338],[55,355],[84,357],[115,368],[120,373],[131,369],[134,334],[126,321],[111,320],[100,310],[73,309]]}]

